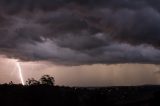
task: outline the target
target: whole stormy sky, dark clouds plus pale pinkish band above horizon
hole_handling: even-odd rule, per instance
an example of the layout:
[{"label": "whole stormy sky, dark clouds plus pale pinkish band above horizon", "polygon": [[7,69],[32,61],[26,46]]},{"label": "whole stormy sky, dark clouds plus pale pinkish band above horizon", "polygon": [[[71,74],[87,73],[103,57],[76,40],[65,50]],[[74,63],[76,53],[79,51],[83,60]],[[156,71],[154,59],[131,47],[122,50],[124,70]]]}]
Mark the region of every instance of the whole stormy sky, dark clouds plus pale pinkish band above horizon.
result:
[{"label": "whole stormy sky, dark clouds plus pale pinkish band above horizon", "polygon": [[159,0],[0,0],[0,83],[160,83]]}]

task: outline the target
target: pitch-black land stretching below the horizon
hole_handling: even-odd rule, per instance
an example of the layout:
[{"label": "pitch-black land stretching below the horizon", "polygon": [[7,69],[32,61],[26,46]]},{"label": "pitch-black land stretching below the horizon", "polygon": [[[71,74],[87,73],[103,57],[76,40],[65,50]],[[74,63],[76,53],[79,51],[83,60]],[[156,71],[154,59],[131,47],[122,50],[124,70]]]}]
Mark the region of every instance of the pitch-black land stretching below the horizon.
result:
[{"label": "pitch-black land stretching below the horizon", "polygon": [[160,106],[160,86],[70,88],[0,85],[0,106]]}]

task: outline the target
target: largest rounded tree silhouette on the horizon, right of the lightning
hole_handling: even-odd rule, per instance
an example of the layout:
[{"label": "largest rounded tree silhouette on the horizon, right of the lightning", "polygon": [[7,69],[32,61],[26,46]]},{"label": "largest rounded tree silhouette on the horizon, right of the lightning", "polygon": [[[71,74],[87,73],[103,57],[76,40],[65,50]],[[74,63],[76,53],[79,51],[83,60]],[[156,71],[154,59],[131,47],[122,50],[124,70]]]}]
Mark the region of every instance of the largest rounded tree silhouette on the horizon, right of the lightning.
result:
[{"label": "largest rounded tree silhouette on the horizon, right of the lightning", "polygon": [[52,76],[49,75],[43,75],[40,78],[40,84],[44,84],[44,85],[54,85],[55,80]]}]

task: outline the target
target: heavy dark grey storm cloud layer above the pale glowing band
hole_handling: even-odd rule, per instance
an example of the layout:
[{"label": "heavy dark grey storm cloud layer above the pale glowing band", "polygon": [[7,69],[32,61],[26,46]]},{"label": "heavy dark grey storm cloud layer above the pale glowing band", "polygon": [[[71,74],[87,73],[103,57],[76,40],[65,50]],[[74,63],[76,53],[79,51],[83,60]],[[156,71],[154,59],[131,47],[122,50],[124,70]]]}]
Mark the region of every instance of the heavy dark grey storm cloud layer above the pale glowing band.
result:
[{"label": "heavy dark grey storm cloud layer above the pale glowing band", "polygon": [[0,53],[55,64],[160,63],[158,0],[0,0]]}]

